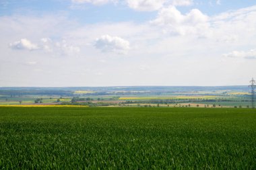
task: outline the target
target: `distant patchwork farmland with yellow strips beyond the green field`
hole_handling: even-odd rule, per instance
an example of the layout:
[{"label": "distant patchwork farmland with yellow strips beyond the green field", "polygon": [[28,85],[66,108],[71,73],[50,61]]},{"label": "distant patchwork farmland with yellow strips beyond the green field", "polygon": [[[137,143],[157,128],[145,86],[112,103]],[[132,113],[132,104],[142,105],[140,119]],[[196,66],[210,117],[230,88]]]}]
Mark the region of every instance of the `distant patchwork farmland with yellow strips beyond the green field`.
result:
[{"label": "distant patchwork farmland with yellow strips beyond the green field", "polygon": [[0,105],[249,108],[247,86],[235,87],[0,87]]}]

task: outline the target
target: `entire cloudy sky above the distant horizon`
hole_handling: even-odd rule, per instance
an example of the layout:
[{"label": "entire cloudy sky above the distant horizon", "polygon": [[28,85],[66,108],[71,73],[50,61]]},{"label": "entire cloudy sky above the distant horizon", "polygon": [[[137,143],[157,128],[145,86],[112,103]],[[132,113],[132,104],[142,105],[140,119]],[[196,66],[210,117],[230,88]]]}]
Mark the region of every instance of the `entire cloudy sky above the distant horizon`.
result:
[{"label": "entire cloudy sky above the distant horizon", "polygon": [[248,85],[255,0],[0,0],[0,87]]}]

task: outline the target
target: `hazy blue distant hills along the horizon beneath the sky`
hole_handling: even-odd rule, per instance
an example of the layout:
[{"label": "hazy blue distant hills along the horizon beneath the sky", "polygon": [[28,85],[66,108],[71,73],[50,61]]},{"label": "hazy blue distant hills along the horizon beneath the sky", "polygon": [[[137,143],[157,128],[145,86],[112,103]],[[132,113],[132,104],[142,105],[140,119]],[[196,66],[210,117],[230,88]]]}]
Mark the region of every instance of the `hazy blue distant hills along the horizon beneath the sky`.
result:
[{"label": "hazy blue distant hills along the horizon beneath the sky", "polygon": [[191,91],[249,91],[246,85],[238,86],[120,86],[120,87],[0,87],[0,95],[73,95],[74,91],[93,91],[97,95],[115,92],[154,93]]}]

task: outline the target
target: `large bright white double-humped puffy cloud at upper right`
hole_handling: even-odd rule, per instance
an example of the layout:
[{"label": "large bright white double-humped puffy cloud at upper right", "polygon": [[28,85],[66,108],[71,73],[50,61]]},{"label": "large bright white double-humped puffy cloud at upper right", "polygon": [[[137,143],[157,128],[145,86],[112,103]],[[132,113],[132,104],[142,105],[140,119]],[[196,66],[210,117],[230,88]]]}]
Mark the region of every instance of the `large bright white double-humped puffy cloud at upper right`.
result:
[{"label": "large bright white double-humped puffy cloud at upper right", "polygon": [[205,34],[209,26],[208,16],[199,9],[192,9],[183,15],[176,7],[169,6],[158,12],[158,17],[151,23],[161,26],[164,31],[174,34]]}]

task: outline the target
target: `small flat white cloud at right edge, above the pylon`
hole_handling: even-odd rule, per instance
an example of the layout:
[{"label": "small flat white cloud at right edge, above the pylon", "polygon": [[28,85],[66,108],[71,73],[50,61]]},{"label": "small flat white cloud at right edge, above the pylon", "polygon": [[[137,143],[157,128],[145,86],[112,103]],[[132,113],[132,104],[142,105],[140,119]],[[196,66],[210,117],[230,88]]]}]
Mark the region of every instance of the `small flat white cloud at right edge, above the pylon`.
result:
[{"label": "small flat white cloud at right edge, above the pylon", "polygon": [[256,49],[249,51],[232,51],[228,54],[223,54],[223,56],[231,58],[245,58],[245,59],[256,59]]}]

